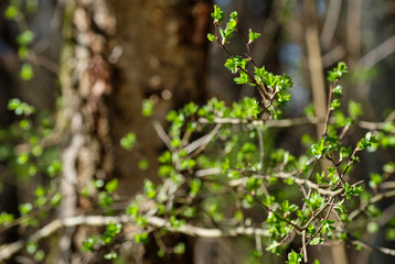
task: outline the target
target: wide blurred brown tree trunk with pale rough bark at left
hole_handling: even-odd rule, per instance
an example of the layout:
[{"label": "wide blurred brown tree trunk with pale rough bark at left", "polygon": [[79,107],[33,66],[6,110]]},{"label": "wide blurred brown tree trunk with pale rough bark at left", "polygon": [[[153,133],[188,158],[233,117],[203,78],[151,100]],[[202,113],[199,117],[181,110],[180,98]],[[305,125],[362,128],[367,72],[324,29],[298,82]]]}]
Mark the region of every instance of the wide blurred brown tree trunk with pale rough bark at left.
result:
[{"label": "wide blurred brown tree trunk with pale rough bark at left", "polygon": [[[60,218],[95,212],[93,179],[117,177],[120,197],[131,197],[142,189],[145,178],[156,176],[163,144],[150,119],[141,116],[141,101],[153,100],[153,119],[164,123],[170,109],[205,99],[205,36],[212,8],[211,1],[195,0],[64,3],[57,129],[66,144]],[[128,132],[137,135],[132,152],[119,146]],[[150,162],[148,172],[138,169],[141,158]],[[78,195],[83,189],[87,197]],[[71,250],[73,244],[79,249],[88,232],[66,230],[56,263],[99,261]]]}]

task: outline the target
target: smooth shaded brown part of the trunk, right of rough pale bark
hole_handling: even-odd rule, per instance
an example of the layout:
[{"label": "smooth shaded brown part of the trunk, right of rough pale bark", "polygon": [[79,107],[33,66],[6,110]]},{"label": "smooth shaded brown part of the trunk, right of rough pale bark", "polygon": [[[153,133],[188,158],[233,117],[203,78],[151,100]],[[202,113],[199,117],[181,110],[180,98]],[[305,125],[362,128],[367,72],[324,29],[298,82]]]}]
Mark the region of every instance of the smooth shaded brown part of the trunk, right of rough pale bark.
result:
[{"label": "smooth shaded brown part of the trunk, right of rough pale bark", "polygon": [[[141,101],[157,102],[153,119],[206,97],[205,74],[211,1],[110,0],[117,20],[116,84],[109,98],[110,127],[115,142],[115,176],[121,194],[134,195],[145,178],[157,173],[157,154],[163,147],[151,120],[141,116]],[[115,50],[116,51],[116,50]],[[132,152],[119,147],[119,139],[135,132]],[[151,163],[148,172],[137,168],[139,160]]]}]

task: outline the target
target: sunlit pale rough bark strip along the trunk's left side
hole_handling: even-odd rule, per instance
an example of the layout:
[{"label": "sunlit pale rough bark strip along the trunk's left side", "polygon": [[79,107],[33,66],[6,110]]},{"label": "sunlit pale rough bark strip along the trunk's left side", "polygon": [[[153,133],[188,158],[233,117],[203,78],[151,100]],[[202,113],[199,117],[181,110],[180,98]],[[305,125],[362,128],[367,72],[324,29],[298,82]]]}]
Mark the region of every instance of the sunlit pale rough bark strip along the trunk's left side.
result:
[{"label": "sunlit pale rough bark strip along the trunk's left side", "polygon": [[[63,108],[57,129],[66,143],[62,154],[60,218],[93,211],[93,179],[108,179],[114,160],[105,97],[111,92],[107,57],[115,20],[105,0],[72,0],[65,4],[60,69]],[[78,196],[84,189],[87,196]],[[71,249],[73,239],[81,246],[85,232],[65,231],[60,239],[57,263],[82,263]]]}]

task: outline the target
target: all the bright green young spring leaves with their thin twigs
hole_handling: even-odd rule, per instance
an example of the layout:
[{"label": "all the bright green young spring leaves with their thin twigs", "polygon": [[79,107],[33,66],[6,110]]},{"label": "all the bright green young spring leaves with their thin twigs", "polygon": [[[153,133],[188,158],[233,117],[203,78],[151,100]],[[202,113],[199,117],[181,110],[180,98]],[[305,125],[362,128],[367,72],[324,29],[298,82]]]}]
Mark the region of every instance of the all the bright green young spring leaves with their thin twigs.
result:
[{"label": "all the bright green young spring leaves with their thin twigs", "polygon": [[[34,11],[36,4],[35,0],[26,1],[25,8]],[[12,2],[6,15],[15,20],[21,15],[21,6]],[[386,120],[363,139],[349,139],[350,129],[359,125],[356,119],[362,116],[362,107],[350,101],[348,114],[342,112],[343,88],[340,81],[348,70],[344,63],[339,63],[328,73],[331,94],[322,136],[305,135],[301,150],[279,148],[277,136],[284,127],[293,122],[278,120],[282,107],[290,100],[292,80],[285,74],[275,75],[265,66],[256,65],[249,47],[259,33],[249,30],[248,36],[242,37],[247,47],[244,55],[233,55],[227,50],[231,38],[241,33],[237,12],[232,12],[225,23],[225,13],[215,6],[212,16],[215,33],[207,34],[209,41],[225,51],[228,56],[225,67],[236,75],[235,82],[253,87],[258,91],[258,98],[243,98],[233,103],[213,98],[203,106],[190,102],[170,111],[167,116],[169,125],[164,125],[167,135],[163,136],[167,150],[158,157],[161,183],[146,178],[143,194],[132,199],[125,210],[127,216],[115,216],[122,205],[117,195],[118,179],[103,179],[98,175],[83,186],[78,190],[82,201],[88,200],[99,212],[115,216],[111,217],[115,221],[100,234],[82,243],[83,251],[99,252],[105,260],[117,258],[119,241],[116,238],[122,232],[120,222],[125,219],[132,221],[134,227],[140,226],[132,231],[136,243],[146,244],[154,238],[160,248],[158,256],[185,253],[185,244],[179,241],[167,244],[169,240],[166,237],[171,232],[196,232],[193,235],[200,235],[204,229],[215,229],[214,233],[221,231],[248,237],[254,230],[263,233],[263,238],[253,234],[256,241],[259,240],[253,252],[255,257],[263,256],[265,250],[275,254],[288,250],[287,263],[292,264],[301,263],[307,252],[289,249],[288,240],[296,241],[291,245],[318,245],[334,239],[350,242],[349,233],[354,230],[361,232],[359,229],[377,232],[380,226],[375,218],[382,212],[375,202],[382,198],[376,193],[395,172],[395,165],[387,163],[382,174],[370,174],[369,185],[373,194],[355,180],[359,176],[353,175],[352,169],[363,150],[373,152],[377,147],[395,146],[393,121]],[[33,32],[22,32],[17,41],[19,57],[29,59]],[[29,80],[33,77],[33,67],[28,61],[22,63],[21,78]],[[150,117],[153,107],[152,100],[143,100],[141,114]],[[63,164],[57,152],[51,153],[51,148],[42,144],[54,133],[51,122],[47,119],[35,120],[35,114],[32,114],[35,109],[19,99],[10,100],[8,108],[21,117],[8,130],[0,130],[0,161],[7,163],[18,178],[47,176],[51,184],[34,186],[31,202],[19,207],[21,218],[15,220],[14,215],[1,212],[0,224],[8,229],[17,221],[22,228],[40,228],[42,220],[49,217],[49,208],[62,201],[57,176],[64,170]],[[307,116],[306,122],[322,122],[317,121],[313,107],[309,108]],[[36,124],[41,127],[38,129]],[[130,132],[119,143],[134,151],[137,141],[136,134]],[[23,147],[15,147],[14,142],[23,143]],[[154,162],[152,165],[156,167]],[[149,169],[150,162],[142,157],[138,161],[138,168]],[[130,169],[132,176],[134,168]],[[330,211],[339,215],[342,224],[329,218]],[[256,215],[259,217],[250,217]],[[360,221],[366,216],[369,221]],[[355,222],[361,227],[352,226]],[[395,223],[388,223],[388,227],[386,237],[394,240]],[[39,243],[28,243],[26,251],[36,262],[45,258]]]}]

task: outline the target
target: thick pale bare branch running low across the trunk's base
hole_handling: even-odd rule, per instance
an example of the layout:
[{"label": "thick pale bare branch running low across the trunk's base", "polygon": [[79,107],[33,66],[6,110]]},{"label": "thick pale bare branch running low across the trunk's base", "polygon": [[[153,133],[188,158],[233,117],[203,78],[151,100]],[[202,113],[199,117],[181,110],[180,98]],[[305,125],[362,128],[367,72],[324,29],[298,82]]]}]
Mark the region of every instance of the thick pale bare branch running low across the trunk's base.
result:
[{"label": "thick pale bare branch running low across the trunk's base", "polygon": [[[243,228],[237,227],[227,230],[221,229],[206,229],[200,228],[191,224],[184,224],[180,228],[171,227],[170,222],[166,219],[158,217],[148,217],[147,218],[148,226],[152,228],[164,228],[170,232],[174,233],[183,233],[191,237],[200,237],[200,238],[223,238],[223,237],[237,237],[237,235],[260,235],[260,237],[269,237],[267,230],[259,228]],[[28,241],[30,242],[39,242],[45,238],[51,237],[55,232],[64,228],[75,228],[78,226],[90,226],[90,227],[100,227],[107,226],[110,222],[113,223],[135,223],[135,220],[127,216],[118,216],[118,217],[104,217],[104,216],[77,216],[65,219],[56,219],[49,224],[44,226],[42,229],[34,232],[32,235],[25,239],[21,239],[17,242],[10,244],[3,244],[0,246],[0,263],[9,260],[13,254],[21,251]]]}]

